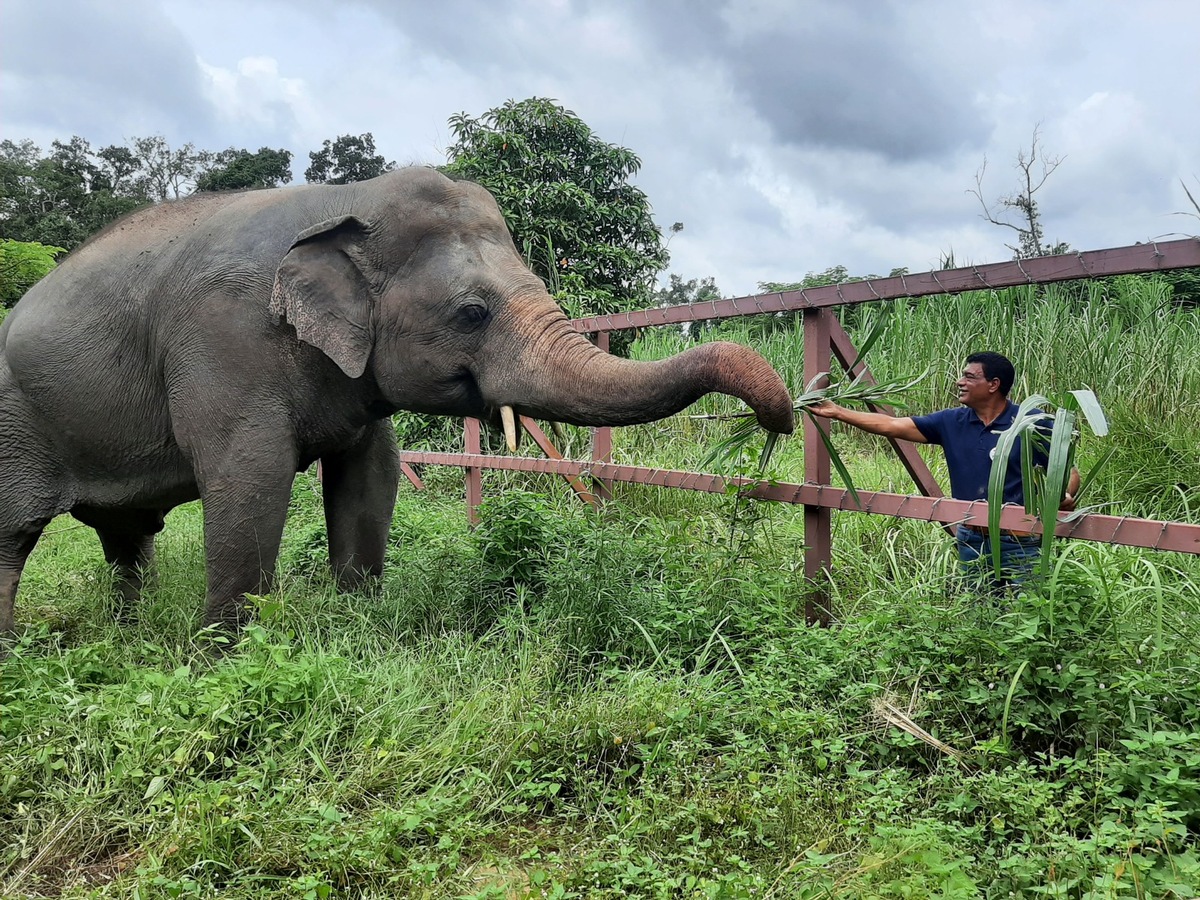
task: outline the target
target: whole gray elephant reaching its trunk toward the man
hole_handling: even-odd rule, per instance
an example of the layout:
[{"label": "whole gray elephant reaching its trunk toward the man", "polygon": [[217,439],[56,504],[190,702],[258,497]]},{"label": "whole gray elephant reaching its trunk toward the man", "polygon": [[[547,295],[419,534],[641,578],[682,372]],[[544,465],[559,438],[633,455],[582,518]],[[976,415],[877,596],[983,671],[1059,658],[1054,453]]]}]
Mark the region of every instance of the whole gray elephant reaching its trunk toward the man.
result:
[{"label": "whole gray elephant reaching its trunk toward the man", "polygon": [[94,527],[126,602],[172,508],[204,502],[205,624],[270,589],[292,481],[324,472],[340,583],[383,568],[398,409],[577,425],[742,397],[791,432],[756,353],[631,362],[571,331],[492,197],[432,169],[154,206],[78,248],[0,326],[0,632],[61,512]]}]

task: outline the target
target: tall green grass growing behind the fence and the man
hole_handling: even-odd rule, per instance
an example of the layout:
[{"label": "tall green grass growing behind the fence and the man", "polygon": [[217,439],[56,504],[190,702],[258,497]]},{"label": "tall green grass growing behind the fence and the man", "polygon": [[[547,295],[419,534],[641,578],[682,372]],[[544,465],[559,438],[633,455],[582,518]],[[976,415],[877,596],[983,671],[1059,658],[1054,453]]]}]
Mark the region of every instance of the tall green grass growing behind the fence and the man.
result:
[{"label": "tall green grass growing behind the fence and the man", "polygon": [[[1200,418],[1200,307],[1174,304],[1162,278],[1121,276],[1028,286],[894,301],[892,307],[883,336],[866,362],[881,380],[929,372],[908,391],[908,413],[953,406],[954,382],[970,353],[1003,353],[1016,367],[1015,397],[1086,386],[1110,414],[1111,438],[1103,446],[1087,438],[1081,445],[1080,461],[1088,466],[1102,452],[1114,451],[1090,505],[1102,504],[1117,515],[1194,516],[1200,506],[1200,442],[1194,428]],[[847,330],[858,340],[877,317],[870,307],[844,311]],[[709,334],[754,344],[794,392],[803,389],[804,342],[798,318],[734,319]],[[635,352],[659,359],[685,344],[678,332],[660,329],[643,334]],[[696,412],[730,413],[737,408],[737,401],[710,395]],[[842,443],[882,445],[869,436],[845,431]],[[689,420],[685,414],[625,430],[619,449],[631,460],[650,457],[688,468],[726,433],[727,426]],[[937,456],[929,457],[935,469]],[[799,480],[800,473],[799,442],[784,442],[773,474]]]}]

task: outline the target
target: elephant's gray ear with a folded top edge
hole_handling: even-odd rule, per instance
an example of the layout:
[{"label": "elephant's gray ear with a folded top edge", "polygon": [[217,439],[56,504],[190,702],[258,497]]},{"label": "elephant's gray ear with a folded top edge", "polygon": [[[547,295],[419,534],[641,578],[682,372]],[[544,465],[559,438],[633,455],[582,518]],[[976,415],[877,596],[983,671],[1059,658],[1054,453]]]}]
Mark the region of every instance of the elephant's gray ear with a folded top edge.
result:
[{"label": "elephant's gray ear with a folded top edge", "polygon": [[271,313],[350,378],[366,371],[374,347],[371,290],[352,254],[365,232],[354,216],[305,229],[280,263],[271,288]]}]

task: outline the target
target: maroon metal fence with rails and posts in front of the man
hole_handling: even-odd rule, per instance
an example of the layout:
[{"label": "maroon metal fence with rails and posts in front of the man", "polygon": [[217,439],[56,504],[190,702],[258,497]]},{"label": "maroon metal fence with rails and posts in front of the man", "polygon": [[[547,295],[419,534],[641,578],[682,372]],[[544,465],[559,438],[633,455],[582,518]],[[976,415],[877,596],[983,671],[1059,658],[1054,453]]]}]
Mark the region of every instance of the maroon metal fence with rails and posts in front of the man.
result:
[{"label": "maroon metal fence with rails and posts in front of the man", "polygon": [[[832,360],[851,371],[857,353],[850,337],[832,316],[830,310],[848,304],[878,300],[958,294],[966,290],[998,289],[1020,284],[1045,284],[1076,278],[1097,278],[1112,275],[1138,275],[1171,269],[1200,266],[1200,238],[1172,241],[1151,241],[1129,247],[1096,250],[1038,259],[1022,259],[991,265],[947,269],[919,275],[900,275],[870,281],[828,284],[805,290],[787,290],[773,294],[755,294],[730,300],[714,300],[690,306],[670,306],[658,310],[614,316],[576,319],[571,323],[576,331],[595,334],[596,342],[607,347],[610,331],[630,328],[672,325],[704,319],[724,319],[738,316],[775,314],[802,312],[804,318],[804,372],[805,383],[829,370]],[[853,374],[870,372],[858,364]],[[532,427],[530,427],[532,426]],[[545,434],[532,422],[527,431],[535,436],[539,446],[551,457],[560,457]],[[462,467],[467,473],[467,503],[474,517],[481,499],[481,473],[484,469],[508,469],[516,472],[541,472],[566,478],[572,488],[589,502],[608,496],[607,485],[623,481],[640,485],[658,485],[689,491],[724,493],[733,486],[745,496],[792,503],[804,506],[804,571],[809,578],[810,594],[806,614],[810,622],[828,622],[832,617],[828,596],[821,587],[821,577],[832,559],[830,511],[850,510],[900,518],[918,518],[940,522],[988,524],[985,502],[967,503],[942,497],[920,455],[908,444],[895,443],[905,468],[913,476],[923,496],[859,491],[863,505],[858,506],[848,491],[829,484],[829,455],[818,439],[818,427],[805,416],[804,421],[804,484],[768,485],[745,480],[730,480],[720,475],[695,472],[647,469],[637,466],[616,466],[610,462],[612,438],[610,428],[594,430],[590,461],[563,458],[535,460],[528,457],[488,456],[480,452],[479,422],[468,420],[466,427],[466,454],[432,454],[401,451],[403,463],[426,463]],[[583,485],[592,479],[593,492]],[[415,480],[414,480],[415,484]],[[1020,506],[1006,506],[1001,514],[1001,527],[1040,533],[1042,523],[1027,517]],[[1186,522],[1162,522],[1126,516],[1084,515],[1070,522],[1060,522],[1056,534],[1063,538],[1121,544],[1133,547],[1177,551],[1200,554],[1200,524]]]}]

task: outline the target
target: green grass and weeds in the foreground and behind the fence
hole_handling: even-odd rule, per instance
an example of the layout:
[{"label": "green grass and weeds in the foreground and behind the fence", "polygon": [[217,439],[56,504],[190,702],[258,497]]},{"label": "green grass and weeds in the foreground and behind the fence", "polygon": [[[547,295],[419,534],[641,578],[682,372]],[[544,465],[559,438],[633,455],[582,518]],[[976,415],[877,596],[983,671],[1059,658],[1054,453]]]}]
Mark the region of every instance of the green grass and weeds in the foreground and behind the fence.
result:
[{"label": "green grass and weeds in the foreground and behind the fence", "polygon": [[[1087,311],[1042,310],[1078,299],[914,301],[872,366],[932,366],[911,398],[931,409],[968,346],[1057,322],[1022,391],[1096,388],[1122,442],[1097,493],[1195,521],[1194,312],[1114,296],[1130,324],[1085,368]],[[798,385],[797,336],[760,343]],[[1169,359],[1122,370],[1134,347]],[[728,427],[623,430],[618,458],[686,468]],[[859,487],[910,490],[882,442],[835,439]],[[798,444],[776,476],[799,480]],[[1064,544],[1045,590],[983,600],[935,526],[835,514],[818,629],[797,509],[618,485],[592,511],[562,479],[487,473],[472,530],[461,473],[425,474],[355,595],[301,475],[281,587],[224,656],[196,641],[198,508],[168,517],[125,625],[92,533],[53,523],[0,671],[0,895],[1196,894],[1200,558]]]}]

